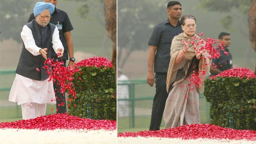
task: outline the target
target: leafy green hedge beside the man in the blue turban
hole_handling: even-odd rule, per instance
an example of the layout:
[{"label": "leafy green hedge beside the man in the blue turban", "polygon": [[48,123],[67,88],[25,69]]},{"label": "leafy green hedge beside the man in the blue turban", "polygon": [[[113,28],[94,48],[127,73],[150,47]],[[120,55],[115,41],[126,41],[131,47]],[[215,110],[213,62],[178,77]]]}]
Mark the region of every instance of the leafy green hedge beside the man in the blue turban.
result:
[{"label": "leafy green hedge beside the man in the blue turban", "polygon": [[76,99],[68,101],[68,113],[95,120],[116,120],[116,81],[112,67],[79,67],[73,84]]}]

